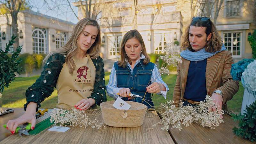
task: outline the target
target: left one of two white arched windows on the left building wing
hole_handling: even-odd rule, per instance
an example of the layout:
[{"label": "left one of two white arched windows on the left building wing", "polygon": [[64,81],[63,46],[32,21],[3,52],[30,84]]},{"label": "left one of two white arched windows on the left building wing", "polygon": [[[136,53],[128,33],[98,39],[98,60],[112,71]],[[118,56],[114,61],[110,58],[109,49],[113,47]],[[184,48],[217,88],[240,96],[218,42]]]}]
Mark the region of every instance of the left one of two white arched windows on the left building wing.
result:
[{"label": "left one of two white arched windows on the left building wing", "polygon": [[46,50],[46,29],[34,27],[32,31],[33,53],[47,53]]}]

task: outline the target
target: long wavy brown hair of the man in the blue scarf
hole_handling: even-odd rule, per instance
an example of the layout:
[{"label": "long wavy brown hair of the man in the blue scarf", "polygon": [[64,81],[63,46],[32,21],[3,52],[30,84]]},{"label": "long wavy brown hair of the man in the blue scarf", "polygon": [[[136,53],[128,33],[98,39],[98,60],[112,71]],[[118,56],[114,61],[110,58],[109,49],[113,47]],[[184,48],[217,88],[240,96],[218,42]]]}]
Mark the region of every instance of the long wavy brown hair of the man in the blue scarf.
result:
[{"label": "long wavy brown hair of the man in the blue scarf", "polygon": [[[222,38],[220,36],[220,34],[218,33],[218,30],[216,28],[216,26],[214,25],[214,23],[209,19],[206,21],[202,21],[202,20],[192,20],[192,22],[190,23],[190,25],[185,29],[185,33],[182,36],[182,42],[181,42],[181,47],[183,50],[190,50],[190,51],[194,51],[190,45],[189,42],[189,28],[190,26],[196,26],[196,27],[206,27],[205,29],[205,33],[208,36],[210,33],[212,33],[212,37],[207,41],[206,45],[205,45],[205,51],[206,52],[216,52],[216,51],[220,51],[223,41]],[[206,37],[207,37],[206,36]]]}]

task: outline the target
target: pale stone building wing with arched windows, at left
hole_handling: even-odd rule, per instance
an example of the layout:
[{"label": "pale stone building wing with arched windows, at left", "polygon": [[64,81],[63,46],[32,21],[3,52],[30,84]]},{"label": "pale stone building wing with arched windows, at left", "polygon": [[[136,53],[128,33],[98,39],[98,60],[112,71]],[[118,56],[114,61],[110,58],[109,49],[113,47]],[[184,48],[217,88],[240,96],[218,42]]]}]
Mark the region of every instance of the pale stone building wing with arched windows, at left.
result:
[{"label": "pale stone building wing with arched windows, at left", "polygon": [[[0,15],[0,46],[11,39],[11,16]],[[18,13],[19,45],[21,53],[47,54],[63,46],[75,24],[50,16],[25,10]]]}]

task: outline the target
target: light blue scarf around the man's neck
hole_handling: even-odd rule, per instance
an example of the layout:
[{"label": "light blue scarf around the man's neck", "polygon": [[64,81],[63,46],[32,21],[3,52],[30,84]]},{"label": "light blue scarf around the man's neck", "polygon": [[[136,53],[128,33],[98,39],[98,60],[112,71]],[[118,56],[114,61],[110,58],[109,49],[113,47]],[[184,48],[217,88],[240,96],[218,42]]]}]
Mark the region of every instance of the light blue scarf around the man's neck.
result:
[{"label": "light blue scarf around the man's neck", "polygon": [[204,49],[205,48],[203,48],[202,50],[197,51],[197,52],[192,52],[192,51],[186,49],[186,50],[180,52],[180,56],[182,58],[184,58],[186,60],[190,60],[190,61],[201,61],[201,60],[207,59],[207,58],[215,55],[218,52],[227,50],[226,47],[224,46],[224,44],[222,44],[221,50],[217,51],[217,52],[205,52]]}]

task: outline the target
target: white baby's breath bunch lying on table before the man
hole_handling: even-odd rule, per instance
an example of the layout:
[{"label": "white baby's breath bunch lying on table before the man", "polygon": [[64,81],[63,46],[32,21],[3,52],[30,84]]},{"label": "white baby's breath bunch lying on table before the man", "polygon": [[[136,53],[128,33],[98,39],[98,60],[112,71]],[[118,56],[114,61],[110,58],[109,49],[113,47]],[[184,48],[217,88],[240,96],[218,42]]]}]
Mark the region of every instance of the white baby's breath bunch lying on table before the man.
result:
[{"label": "white baby's breath bunch lying on table before the man", "polygon": [[[162,119],[157,124],[163,125],[162,130],[168,130],[169,126],[172,128],[182,129],[181,124],[186,127],[189,126],[193,121],[203,127],[209,127],[214,129],[219,126],[220,123],[224,123],[220,115],[223,111],[217,108],[217,104],[213,102],[210,96],[206,96],[205,100],[200,102],[195,107],[183,106],[183,102],[180,103],[180,107],[173,105],[174,101],[170,100],[162,103],[157,111],[161,114]],[[212,111],[215,108],[216,111]],[[152,126],[156,126],[153,124]]]}]

